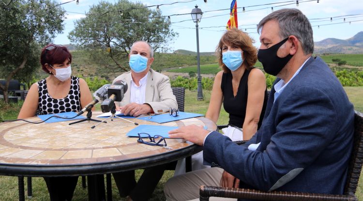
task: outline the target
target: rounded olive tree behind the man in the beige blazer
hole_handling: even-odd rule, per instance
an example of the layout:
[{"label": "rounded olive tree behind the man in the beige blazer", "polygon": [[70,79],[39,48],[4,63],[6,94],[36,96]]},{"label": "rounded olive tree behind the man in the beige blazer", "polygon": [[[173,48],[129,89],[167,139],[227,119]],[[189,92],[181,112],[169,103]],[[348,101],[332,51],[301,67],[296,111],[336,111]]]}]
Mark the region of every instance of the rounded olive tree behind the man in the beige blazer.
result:
[{"label": "rounded olive tree behind the man in the beige blazer", "polygon": [[[91,58],[102,67],[115,72],[128,71],[128,53],[136,41],[151,43],[154,50],[167,50],[177,33],[160,11],[128,0],[92,5],[85,18],[76,20],[75,29],[68,36],[71,43],[92,52]],[[109,61],[111,58],[112,61]]]}]

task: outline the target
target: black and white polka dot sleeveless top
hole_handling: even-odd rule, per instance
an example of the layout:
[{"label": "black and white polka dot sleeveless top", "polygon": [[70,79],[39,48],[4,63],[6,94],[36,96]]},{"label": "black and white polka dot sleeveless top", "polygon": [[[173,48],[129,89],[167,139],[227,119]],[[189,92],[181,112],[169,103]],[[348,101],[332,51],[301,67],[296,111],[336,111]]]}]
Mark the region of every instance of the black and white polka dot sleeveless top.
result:
[{"label": "black and white polka dot sleeveless top", "polygon": [[71,77],[71,87],[68,95],[63,99],[53,99],[48,94],[46,80],[38,82],[39,91],[39,115],[57,114],[64,112],[77,112],[81,110],[79,78]]}]

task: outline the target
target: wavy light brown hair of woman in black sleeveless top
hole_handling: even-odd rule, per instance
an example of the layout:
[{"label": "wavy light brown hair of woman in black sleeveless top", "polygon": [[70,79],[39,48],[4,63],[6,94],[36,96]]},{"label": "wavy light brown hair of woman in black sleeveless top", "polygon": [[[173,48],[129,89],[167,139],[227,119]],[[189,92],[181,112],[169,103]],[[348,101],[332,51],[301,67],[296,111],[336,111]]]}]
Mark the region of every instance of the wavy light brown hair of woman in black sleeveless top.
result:
[{"label": "wavy light brown hair of woman in black sleeveless top", "polygon": [[222,66],[224,72],[230,72],[227,66],[223,63],[222,48],[225,44],[235,45],[240,47],[243,51],[243,62],[247,63],[247,70],[252,69],[257,61],[257,48],[253,46],[255,41],[248,36],[246,32],[243,32],[237,28],[227,30],[223,34],[221,40],[219,40],[218,46],[216,48],[216,54],[218,57],[218,63]]}]

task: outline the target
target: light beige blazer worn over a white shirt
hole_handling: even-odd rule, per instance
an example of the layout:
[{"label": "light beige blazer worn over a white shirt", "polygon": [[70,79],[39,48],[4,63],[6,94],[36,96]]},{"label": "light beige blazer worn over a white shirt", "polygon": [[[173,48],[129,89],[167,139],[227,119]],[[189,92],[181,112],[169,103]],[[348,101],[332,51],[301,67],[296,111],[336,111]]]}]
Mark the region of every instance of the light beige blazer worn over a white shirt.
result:
[{"label": "light beige blazer worn over a white shirt", "polygon": [[[149,72],[148,80],[146,81],[145,103],[151,106],[155,114],[168,112],[169,108],[177,109],[178,103],[171,90],[169,77],[152,69]],[[131,71],[116,77],[112,83],[115,83],[117,80],[125,81],[128,86],[122,101],[118,102],[119,106],[124,106],[130,103]]]}]

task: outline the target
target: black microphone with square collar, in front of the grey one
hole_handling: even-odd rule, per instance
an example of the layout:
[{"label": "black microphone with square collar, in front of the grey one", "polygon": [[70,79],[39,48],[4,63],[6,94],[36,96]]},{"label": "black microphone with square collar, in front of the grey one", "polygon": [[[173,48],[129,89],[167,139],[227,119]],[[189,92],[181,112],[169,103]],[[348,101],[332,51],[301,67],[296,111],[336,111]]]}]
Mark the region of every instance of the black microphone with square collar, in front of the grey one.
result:
[{"label": "black microphone with square collar, in front of the grey one", "polygon": [[104,100],[101,104],[103,113],[111,111],[115,101],[121,101],[124,93],[127,91],[127,83],[122,80],[117,80],[113,85],[107,89],[108,99]]}]

